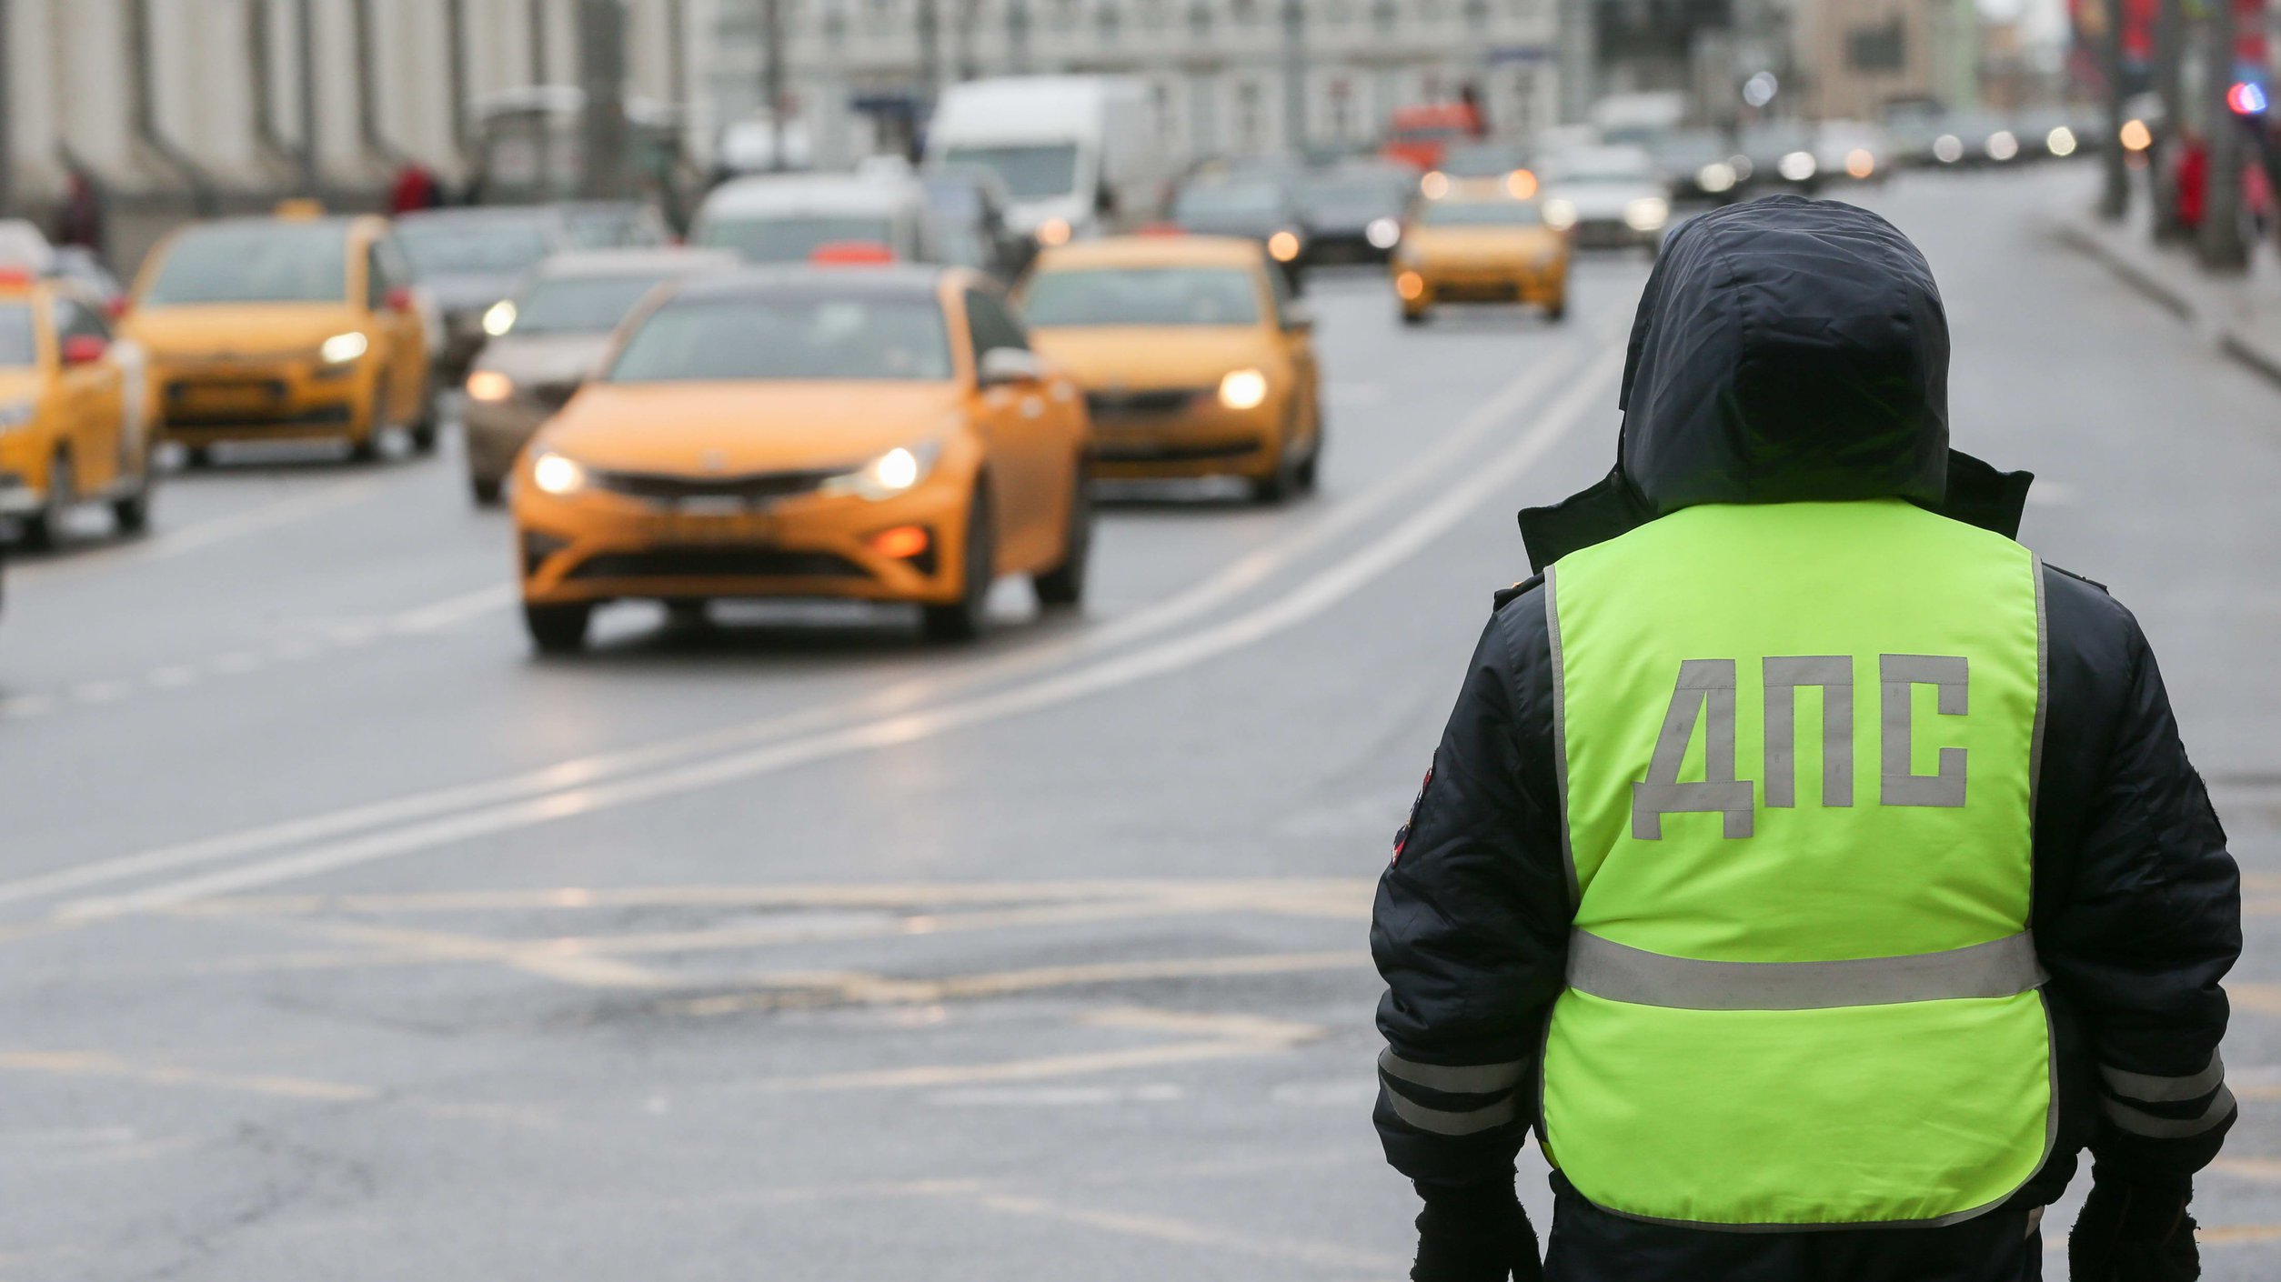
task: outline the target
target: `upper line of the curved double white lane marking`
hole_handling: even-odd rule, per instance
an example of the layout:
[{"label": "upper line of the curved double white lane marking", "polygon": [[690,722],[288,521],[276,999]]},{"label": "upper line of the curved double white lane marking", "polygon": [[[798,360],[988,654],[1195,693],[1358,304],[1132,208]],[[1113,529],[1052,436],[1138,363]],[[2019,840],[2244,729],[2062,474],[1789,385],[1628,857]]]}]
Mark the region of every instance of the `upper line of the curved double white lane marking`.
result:
[{"label": "upper line of the curved double white lane marking", "polygon": [[[1613,335],[1601,335],[1601,351],[1606,351],[1606,342],[1610,340]],[[1029,646],[1013,655],[983,659],[979,664],[972,664],[953,673],[935,673],[906,680],[878,689],[869,696],[862,696],[853,703],[837,703],[778,716],[764,716],[757,721],[744,721],[737,725],[725,725],[721,730],[707,730],[682,739],[666,739],[641,748],[627,748],[618,753],[595,753],[588,757],[570,757],[563,762],[554,762],[550,766],[541,766],[536,771],[525,771],[495,780],[408,794],[365,805],[351,805],[324,814],[287,819],[281,823],[265,823],[258,828],[221,833],[214,837],[198,837],[171,846],[157,846],[132,855],[73,865],[66,869],[36,874],[30,878],[0,881],[0,903],[46,899],[50,894],[68,894],[75,890],[89,890],[96,885],[107,885],[135,876],[233,860],[281,846],[322,842],[328,837],[358,833],[363,828],[406,823],[433,814],[449,814],[454,810],[490,805],[536,794],[552,794],[568,787],[600,782],[614,776],[666,766],[687,757],[703,757],[703,755],[748,748],[753,744],[812,732],[835,723],[878,716],[885,712],[910,709],[937,693],[956,693],[958,689],[983,684],[997,677],[1017,675],[1022,671],[1042,668],[1047,664],[1061,662],[1072,655],[1088,655],[1120,643],[1138,641],[1140,636],[1170,630],[1179,623],[1186,623],[1188,618],[1195,618],[1229,602],[1243,591],[1268,579],[1284,566],[1316,552],[1318,547],[1344,536],[1346,532],[1378,520],[1385,509],[1394,506],[1398,500],[1403,500],[1403,495],[1430,481],[1442,468],[1462,456],[1480,438],[1503,427],[1510,420],[1510,415],[1517,413],[1521,406],[1526,406],[1531,399],[1544,395],[1562,379],[1572,379],[1576,372],[1574,356],[1578,354],[1569,351],[1567,356],[1572,358],[1544,360],[1531,365],[1519,376],[1499,388],[1487,401],[1467,413],[1467,417],[1460,420],[1458,427],[1453,427],[1432,447],[1417,454],[1407,465],[1380,479],[1369,490],[1362,490],[1353,500],[1334,506],[1321,520],[1314,520],[1312,525],[1305,525],[1277,541],[1257,547],[1248,557],[1234,561],[1218,575],[1195,584],[1184,593],[1166,598],[1163,602],[1134,611],[1125,618],[1104,623],[1102,627],[1088,627],[1070,641],[1047,641],[1040,646]],[[376,623],[356,620],[331,627],[328,636],[335,646],[347,648],[370,641],[376,630],[379,630]]]}]

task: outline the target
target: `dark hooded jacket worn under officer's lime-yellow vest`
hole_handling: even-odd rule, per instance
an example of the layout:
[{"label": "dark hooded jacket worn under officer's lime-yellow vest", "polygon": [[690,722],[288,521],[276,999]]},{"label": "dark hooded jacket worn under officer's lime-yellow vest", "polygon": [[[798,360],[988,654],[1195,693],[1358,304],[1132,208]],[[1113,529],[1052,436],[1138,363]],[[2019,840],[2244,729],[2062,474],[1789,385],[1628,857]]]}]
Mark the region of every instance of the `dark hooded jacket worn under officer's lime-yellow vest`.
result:
[{"label": "dark hooded jacket worn under officer's lime-yellow vest", "polygon": [[[1777,196],[1681,226],[1640,299],[1622,406],[1615,470],[1521,513],[1533,570],[1693,504],[1902,497],[2019,532],[2030,477],[1948,449],[1948,322],[1930,267],[1852,205]],[[1510,1177],[1562,988],[1574,901],[1540,584],[1496,593],[1378,885],[1371,951],[1389,1054],[1480,1070],[1380,1072],[1387,1159],[1426,1184]],[[2130,611],[2055,568],[2044,595],[2030,926],[2051,972],[2060,1143],[2014,1207],[2057,1198],[2085,1147],[2114,1177],[2183,1182],[2233,1122],[2215,1058],[2219,979],[2240,951],[2224,830]],[[1515,1077],[1487,1065],[1517,1065],[1519,1081],[1471,1090]]]}]

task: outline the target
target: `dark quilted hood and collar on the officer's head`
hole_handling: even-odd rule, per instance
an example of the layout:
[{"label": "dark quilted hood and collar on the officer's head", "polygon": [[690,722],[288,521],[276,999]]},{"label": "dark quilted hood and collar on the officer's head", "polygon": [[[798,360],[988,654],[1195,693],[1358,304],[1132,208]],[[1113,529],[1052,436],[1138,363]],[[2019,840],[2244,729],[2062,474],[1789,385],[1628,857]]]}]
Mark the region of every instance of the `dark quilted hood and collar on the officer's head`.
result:
[{"label": "dark quilted hood and collar on the officer's head", "polygon": [[1882,217],[1768,196],[1679,226],[1624,363],[1615,472],[1521,513],[1531,561],[1695,504],[1898,497],[2019,532],[2026,472],[1948,449],[1948,313]]}]

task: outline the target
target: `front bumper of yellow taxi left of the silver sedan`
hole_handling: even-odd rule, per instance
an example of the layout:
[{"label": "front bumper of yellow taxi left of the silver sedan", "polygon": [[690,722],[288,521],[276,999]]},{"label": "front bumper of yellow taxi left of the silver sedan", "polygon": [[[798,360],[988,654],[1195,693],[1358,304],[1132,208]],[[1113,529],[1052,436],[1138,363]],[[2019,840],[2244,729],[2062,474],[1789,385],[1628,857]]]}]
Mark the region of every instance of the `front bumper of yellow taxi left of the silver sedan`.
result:
[{"label": "front bumper of yellow taxi left of the silver sedan", "polygon": [[370,431],[367,363],[160,363],[153,383],[167,438],[185,445],[354,440]]}]

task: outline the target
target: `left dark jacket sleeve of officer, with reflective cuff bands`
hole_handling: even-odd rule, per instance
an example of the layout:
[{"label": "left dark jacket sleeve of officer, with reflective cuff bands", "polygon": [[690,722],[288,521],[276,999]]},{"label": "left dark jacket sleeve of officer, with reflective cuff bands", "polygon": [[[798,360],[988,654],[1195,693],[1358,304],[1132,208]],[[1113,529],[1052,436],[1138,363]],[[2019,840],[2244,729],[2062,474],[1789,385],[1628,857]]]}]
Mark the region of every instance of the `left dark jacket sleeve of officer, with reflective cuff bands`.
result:
[{"label": "left dark jacket sleeve of officer, with reflective cuff bands", "polygon": [[1544,593],[1510,595],[1378,881],[1375,1122],[1387,1161],[1423,1184],[1510,1182],[1535,1118],[1572,919],[1549,664]]}]

